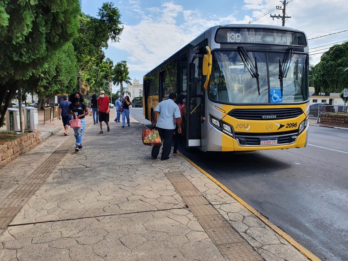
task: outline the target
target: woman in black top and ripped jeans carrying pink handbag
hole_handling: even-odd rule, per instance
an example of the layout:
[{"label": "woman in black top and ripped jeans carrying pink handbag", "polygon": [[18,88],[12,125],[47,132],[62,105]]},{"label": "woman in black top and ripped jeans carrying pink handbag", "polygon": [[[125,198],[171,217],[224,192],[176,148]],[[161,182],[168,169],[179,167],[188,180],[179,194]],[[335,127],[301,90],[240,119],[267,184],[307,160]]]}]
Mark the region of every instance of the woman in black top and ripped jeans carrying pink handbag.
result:
[{"label": "woman in black top and ripped jeans carrying pink handbag", "polygon": [[[72,120],[80,119],[80,126],[74,128],[74,135],[76,139],[75,151],[79,152],[82,149],[82,135],[86,127],[85,116],[88,115],[87,105],[83,102],[84,98],[80,93],[73,93],[70,95],[71,104],[69,105],[68,114],[72,115]],[[73,126],[73,125],[71,125]]]}]

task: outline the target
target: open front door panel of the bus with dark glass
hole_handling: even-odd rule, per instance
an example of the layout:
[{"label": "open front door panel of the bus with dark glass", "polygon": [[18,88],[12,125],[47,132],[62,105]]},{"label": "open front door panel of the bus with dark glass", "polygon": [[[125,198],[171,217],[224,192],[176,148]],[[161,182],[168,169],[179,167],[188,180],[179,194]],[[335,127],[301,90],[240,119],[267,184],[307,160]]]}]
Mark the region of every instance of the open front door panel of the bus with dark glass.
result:
[{"label": "open front door panel of the bus with dark glass", "polygon": [[189,50],[187,55],[187,126],[186,148],[201,147],[201,112],[202,106],[202,62],[203,54],[199,50]]}]

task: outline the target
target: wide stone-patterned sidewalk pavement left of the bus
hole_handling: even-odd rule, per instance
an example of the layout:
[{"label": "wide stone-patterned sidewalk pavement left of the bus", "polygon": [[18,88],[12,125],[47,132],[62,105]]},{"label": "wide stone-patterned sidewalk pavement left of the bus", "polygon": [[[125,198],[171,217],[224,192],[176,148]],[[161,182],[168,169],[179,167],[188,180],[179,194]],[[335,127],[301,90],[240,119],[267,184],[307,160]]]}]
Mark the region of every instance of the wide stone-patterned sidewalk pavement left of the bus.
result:
[{"label": "wide stone-patterned sidewalk pavement left of the bus", "polygon": [[0,230],[1,260],[307,260],[184,158],[152,160],[141,124],[110,128],[23,183],[42,184]]}]

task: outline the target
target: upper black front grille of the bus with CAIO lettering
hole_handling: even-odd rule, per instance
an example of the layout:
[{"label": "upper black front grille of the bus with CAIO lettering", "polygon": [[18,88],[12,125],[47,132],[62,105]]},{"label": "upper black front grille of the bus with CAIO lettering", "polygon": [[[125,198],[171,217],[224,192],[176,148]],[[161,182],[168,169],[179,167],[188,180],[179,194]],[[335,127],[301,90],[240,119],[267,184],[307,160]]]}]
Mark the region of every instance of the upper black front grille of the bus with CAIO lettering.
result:
[{"label": "upper black front grille of the bus with CAIO lettering", "polygon": [[303,111],[300,108],[233,109],[228,115],[241,120],[281,120],[296,118],[302,113]]}]

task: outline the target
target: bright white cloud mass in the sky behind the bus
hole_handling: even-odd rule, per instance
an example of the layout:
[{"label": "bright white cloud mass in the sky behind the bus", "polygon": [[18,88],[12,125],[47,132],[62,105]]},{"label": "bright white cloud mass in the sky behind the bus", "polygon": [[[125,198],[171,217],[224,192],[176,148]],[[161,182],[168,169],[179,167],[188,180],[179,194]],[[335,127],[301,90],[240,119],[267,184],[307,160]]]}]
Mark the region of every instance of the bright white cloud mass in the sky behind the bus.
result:
[{"label": "bright white cloud mass in the sky behind the bus", "polygon": [[[202,10],[185,9],[174,2],[164,2],[159,7],[148,9],[141,8],[139,1],[128,1],[128,3],[131,2],[132,6],[129,8],[133,10],[133,16],[140,18],[140,22],[135,25],[125,25],[120,43],[110,43],[110,49],[116,48],[129,54],[126,60],[130,74],[134,71],[141,73],[153,69],[211,26],[248,23],[277,4],[274,0],[244,0],[244,11],[235,11],[234,14],[225,17],[216,14],[209,17]],[[244,17],[237,19],[236,14],[242,11],[245,14]],[[275,12],[273,11],[272,14]],[[346,29],[347,7],[345,1],[293,0],[288,3],[286,13],[292,18],[289,18],[285,25],[303,30],[308,38]],[[254,24],[282,24],[281,20],[272,21],[269,16],[267,14],[261,17]],[[341,19],[337,17],[341,17]],[[327,40],[327,38],[311,40],[310,47]],[[313,63],[317,63],[319,57],[320,55],[313,56]]]}]

